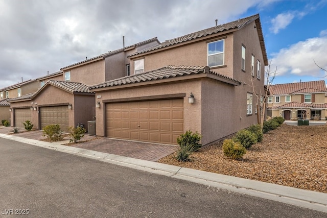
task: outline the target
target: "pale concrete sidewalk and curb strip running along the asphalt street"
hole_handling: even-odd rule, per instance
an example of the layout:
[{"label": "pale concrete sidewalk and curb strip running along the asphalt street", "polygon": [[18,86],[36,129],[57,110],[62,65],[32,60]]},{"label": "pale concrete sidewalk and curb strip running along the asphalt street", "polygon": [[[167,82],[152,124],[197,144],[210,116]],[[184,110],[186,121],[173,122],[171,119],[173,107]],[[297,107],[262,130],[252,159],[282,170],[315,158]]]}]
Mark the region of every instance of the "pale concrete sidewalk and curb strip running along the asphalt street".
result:
[{"label": "pale concrete sidewalk and curb strip running along the asphalt street", "polygon": [[265,198],[327,213],[326,193],[198,171],[195,169],[189,169],[130,157],[123,157],[119,155],[91,151],[82,148],[63,146],[62,144],[56,142],[50,143],[1,133],[0,137],[32,144],[34,146],[39,146],[42,148],[79,155],[91,159],[96,159],[99,161],[147,171],[150,173],[188,180],[212,187],[228,189],[231,191],[244,193],[246,195]]}]

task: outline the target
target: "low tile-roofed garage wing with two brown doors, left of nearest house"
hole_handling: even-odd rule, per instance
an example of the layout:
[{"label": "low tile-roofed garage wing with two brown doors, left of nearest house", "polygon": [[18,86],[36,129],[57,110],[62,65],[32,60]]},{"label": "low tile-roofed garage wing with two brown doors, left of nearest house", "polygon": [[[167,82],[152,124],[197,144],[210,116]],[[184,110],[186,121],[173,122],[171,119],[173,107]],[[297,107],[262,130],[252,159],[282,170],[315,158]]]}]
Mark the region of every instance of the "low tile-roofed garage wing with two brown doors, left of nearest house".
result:
[{"label": "low tile-roofed garage wing with two brown doors, left of nearest house", "polygon": [[[81,83],[49,80],[37,92],[8,100],[11,103],[12,126],[24,127],[30,120],[34,129],[59,124],[68,131],[95,116],[95,93]],[[87,127],[86,127],[87,129]]]}]

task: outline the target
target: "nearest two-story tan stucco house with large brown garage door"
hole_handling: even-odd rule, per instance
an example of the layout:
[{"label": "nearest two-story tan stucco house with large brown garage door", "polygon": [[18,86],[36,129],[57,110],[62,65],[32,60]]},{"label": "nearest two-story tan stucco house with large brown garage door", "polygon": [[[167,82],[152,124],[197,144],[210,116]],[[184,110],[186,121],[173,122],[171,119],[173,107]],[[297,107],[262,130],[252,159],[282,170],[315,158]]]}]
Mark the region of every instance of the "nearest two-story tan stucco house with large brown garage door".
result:
[{"label": "nearest two-story tan stucco house with large brown garage door", "polygon": [[175,144],[192,130],[205,145],[258,123],[255,105],[268,65],[259,15],[129,58],[131,76],[90,86],[97,96],[97,135]]}]

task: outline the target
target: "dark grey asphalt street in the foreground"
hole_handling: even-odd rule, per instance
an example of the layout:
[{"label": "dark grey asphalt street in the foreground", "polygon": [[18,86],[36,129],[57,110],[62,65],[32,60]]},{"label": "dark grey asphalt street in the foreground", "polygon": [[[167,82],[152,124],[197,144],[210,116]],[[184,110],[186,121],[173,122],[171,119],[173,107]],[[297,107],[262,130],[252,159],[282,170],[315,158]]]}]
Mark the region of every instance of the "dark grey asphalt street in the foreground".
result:
[{"label": "dark grey asphalt street in the foreground", "polygon": [[327,216],[4,138],[0,172],[4,217]]}]

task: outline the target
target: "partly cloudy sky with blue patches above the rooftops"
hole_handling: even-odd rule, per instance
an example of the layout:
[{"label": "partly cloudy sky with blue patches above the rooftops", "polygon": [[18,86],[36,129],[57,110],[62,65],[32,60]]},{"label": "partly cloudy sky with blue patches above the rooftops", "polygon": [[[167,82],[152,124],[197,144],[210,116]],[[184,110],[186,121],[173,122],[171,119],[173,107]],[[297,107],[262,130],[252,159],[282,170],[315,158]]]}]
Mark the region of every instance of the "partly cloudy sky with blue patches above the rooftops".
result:
[{"label": "partly cloudy sky with blue patches above the rooftops", "polygon": [[325,80],[327,0],[0,0],[0,88],[260,14],[272,84]]}]

